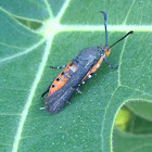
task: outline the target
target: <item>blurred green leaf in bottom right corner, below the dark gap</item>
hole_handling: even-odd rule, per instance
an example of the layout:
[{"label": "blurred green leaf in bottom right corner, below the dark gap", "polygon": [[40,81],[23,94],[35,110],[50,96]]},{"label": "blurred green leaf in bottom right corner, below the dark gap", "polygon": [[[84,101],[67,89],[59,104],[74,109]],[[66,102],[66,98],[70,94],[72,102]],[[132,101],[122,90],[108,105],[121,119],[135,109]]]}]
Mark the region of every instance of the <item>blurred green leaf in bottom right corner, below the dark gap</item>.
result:
[{"label": "blurred green leaf in bottom right corner, below the dark gap", "polygon": [[151,135],[134,135],[117,129],[114,130],[115,152],[150,152],[152,150],[151,141]]}]

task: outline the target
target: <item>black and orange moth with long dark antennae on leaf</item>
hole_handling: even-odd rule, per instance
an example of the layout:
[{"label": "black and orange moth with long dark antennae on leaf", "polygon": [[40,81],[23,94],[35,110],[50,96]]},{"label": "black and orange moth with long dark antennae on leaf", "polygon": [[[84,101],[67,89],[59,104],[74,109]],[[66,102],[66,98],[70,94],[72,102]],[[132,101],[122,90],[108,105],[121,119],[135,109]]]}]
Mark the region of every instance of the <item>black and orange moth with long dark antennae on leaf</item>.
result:
[{"label": "black and orange moth with long dark antennae on leaf", "polygon": [[[65,103],[69,102],[71,96],[75,90],[80,92],[79,86],[85,84],[101,66],[103,61],[111,68],[113,67],[107,61],[106,58],[111,52],[111,48],[127,37],[132,31],[129,31],[114,45],[106,47],[107,45],[107,31],[106,31],[106,14],[101,11],[104,15],[104,27],[105,27],[105,46],[90,47],[81,50],[75,59],[72,60],[60,74],[54,79],[54,81],[48,87],[48,89],[42,93],[42,97],[48,93],[46,98],[45,107],[49,113],[55,114],[62,110]],[[62,68],[62,67],[52,67],[52,68]]]}]

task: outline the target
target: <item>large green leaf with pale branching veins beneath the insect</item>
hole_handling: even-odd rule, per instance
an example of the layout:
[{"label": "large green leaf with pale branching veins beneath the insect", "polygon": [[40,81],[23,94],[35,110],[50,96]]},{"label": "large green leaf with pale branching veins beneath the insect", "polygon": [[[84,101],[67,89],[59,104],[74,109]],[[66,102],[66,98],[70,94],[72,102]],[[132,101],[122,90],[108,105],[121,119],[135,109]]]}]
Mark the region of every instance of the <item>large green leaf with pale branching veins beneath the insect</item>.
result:
[{"label": "large green leaf with pale branching veins beneath the insect", "polygon": [[[0,150],[112,152],[121,106],[129,101],[152,102],[150,4],[1,0]],[[83,94],[72,96],[71,105],[56,115],[39,111],[45,105],[41,93],[61,72],[49,65],[67,64],[84,48],[104,46],[101,10],[107,15],[109,46],[135,30],[112,48],[107,60],[118,69],[103,63],[81,87]]]}]

